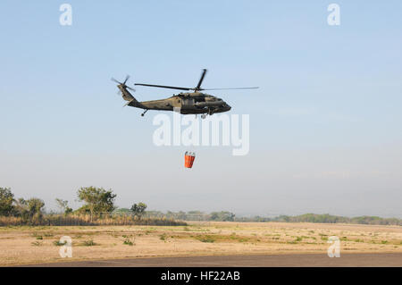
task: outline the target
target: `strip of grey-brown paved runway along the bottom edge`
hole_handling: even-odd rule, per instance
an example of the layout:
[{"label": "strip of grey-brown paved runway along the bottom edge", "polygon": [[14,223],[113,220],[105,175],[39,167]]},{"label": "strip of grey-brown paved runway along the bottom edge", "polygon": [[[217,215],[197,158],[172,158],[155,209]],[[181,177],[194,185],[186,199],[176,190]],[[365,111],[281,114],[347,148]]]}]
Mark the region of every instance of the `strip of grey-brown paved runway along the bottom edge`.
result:
[{"label": "strip of grey-brown paved runway along the bottom edge", "polygon": [[61,262],[55,264],[30,264],[25,266],[45,267],[283,267],[283,266],[392,266],[402,267],[402,253],[344,254],[328,257],[326,254],[304,255],[254,255],[254,256],[184,256],[152,257],[80,262]]}]

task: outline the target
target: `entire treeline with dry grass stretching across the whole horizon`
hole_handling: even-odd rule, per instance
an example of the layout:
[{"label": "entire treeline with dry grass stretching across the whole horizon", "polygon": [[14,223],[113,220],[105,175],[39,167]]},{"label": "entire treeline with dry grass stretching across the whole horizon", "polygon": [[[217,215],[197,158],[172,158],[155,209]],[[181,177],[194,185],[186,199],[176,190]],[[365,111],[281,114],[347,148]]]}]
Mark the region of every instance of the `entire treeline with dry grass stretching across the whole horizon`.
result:
[{"label": "entire treeline with dry grass stretching across the whole horizon", "polygon": [[116,194],[111,189],[83,187],[77,191],[83,205],[73,210],[67,200],[56,198],[59,212],[45,212],[45,202],[38,197],[15,198],[11,189],[0,188],[0,225],[185,225],[177,221],[215,222],[321,222],[357,223],[374,225],[402,225],[402,219],[378,216],[344,217],[331,214],[300,214],[277,217],[241,217],[231,212],[205,213],[201,211],[171,212],[147,211],[147,205],[134,203],[130,208],[114,205]]}]

